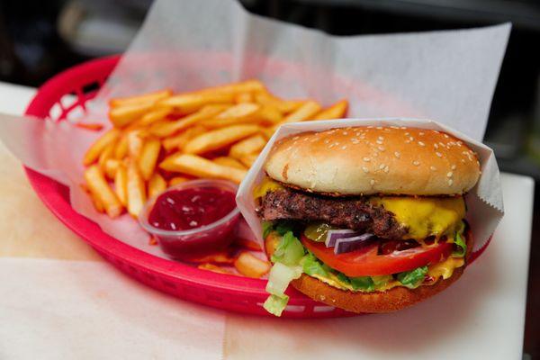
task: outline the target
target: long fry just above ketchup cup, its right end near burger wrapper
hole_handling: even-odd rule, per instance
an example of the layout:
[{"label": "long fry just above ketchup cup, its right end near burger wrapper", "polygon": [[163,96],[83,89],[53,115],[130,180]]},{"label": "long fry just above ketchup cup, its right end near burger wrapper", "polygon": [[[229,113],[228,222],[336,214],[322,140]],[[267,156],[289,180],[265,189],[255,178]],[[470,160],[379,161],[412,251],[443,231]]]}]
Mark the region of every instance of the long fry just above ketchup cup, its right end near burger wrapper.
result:
[{"label": "long fry just above ketchup cup, its right end near burger wrapper", "polygon": [[246,170],[236,167],[215,164],[204,157],[176,153],[166,157],[159,167],[171,172],[184,173],[199,177],[211,177],[231,180],[240,183],[246,175]]}]

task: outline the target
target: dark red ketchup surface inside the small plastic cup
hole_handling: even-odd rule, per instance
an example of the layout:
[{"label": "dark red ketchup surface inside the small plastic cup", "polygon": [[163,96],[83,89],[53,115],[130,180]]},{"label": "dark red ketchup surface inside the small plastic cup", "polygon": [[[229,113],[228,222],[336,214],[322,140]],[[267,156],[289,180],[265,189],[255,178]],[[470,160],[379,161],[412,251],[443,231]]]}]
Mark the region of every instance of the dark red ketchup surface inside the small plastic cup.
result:
[{"label": "dark red ketchup surface inside the small plastic cup", "polygon": [[235,193],[217,186],[171,190],[157,197],[148,222],[164,230],[200,228],[224,218],[235,207]]}]

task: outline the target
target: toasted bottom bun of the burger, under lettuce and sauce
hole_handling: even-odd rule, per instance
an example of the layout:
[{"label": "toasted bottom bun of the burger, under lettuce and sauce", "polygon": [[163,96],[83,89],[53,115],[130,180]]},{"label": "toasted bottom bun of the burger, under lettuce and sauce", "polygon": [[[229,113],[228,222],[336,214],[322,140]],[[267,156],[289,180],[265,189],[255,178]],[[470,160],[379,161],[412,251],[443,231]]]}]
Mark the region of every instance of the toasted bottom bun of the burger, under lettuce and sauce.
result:
[{"label": "toasted bottom bun of the burger, under lettuce and sauce", "polygon": [[[296,290],[308,295],[317,302],[324,302],[327,305],[335,306],[346,311],[356,313],[398,311],[415,303],[423,302],[429,297],[442,292],[464,273],[464,267],[473,250],[471,232],[467,229],[464,235],[467,242],[465,265],[456,268],[454,274],[448,279],[438,280],[433,285],[423,285],[416,289],[397,286],[385,292],[360,293],[338,289],[305,274],[302,274],[299,279],[293,280],[291,284]],[[268,255],[274,253],[277,240],[278,238],[274,234],[270,234],[266,238],[265,245]]]}]

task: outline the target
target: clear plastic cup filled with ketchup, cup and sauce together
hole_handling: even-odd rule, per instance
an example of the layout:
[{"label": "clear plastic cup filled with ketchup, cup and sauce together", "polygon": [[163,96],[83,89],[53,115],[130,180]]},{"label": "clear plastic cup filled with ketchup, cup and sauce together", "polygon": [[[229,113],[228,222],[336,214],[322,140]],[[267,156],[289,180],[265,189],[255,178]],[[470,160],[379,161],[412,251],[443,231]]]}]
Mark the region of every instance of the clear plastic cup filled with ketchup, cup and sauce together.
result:
[{"label": "clear plastic cup filled with ketchup, cup and sauce together", "polygon": [[139,216],[143,229],[161,249],[182,260],[229,246],[239,220],[236,184],[225,180],[192,180],[150,199]]}]

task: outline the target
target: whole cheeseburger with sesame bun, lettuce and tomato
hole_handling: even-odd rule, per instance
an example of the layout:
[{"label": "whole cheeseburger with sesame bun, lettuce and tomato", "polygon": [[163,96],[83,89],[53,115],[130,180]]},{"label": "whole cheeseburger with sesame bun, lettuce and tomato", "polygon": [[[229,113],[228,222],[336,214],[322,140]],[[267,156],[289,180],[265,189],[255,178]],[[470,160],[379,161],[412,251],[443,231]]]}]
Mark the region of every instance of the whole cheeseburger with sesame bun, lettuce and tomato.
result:
[{"label": "whole cheeseburger with sesame bun, lettuce and tomato", "polygon": [[464,194],[476,154],[437,130],[351,127],[275,143],[254,190],[273,263],[267,311],[289,284],[347,311],[397,311],[441,292],[473,247]]}]

